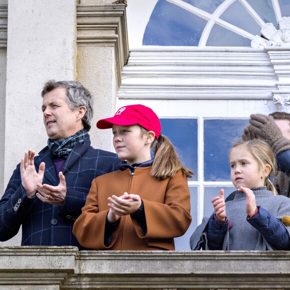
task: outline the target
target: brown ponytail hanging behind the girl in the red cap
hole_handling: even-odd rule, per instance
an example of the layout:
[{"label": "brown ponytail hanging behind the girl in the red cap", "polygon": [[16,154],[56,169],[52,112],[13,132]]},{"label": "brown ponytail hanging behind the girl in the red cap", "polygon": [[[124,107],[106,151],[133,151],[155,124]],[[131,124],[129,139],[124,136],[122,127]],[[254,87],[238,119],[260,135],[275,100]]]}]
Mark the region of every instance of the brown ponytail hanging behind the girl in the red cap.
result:
[{"label": "brown ponytail hanging behind the girl in the red cap", "polygon": [[178,170],[191,177],[193,171],[184,167],[170,140],[161,134],[154,144],[154,162],[150,174],[158,180],[172,177]]}]

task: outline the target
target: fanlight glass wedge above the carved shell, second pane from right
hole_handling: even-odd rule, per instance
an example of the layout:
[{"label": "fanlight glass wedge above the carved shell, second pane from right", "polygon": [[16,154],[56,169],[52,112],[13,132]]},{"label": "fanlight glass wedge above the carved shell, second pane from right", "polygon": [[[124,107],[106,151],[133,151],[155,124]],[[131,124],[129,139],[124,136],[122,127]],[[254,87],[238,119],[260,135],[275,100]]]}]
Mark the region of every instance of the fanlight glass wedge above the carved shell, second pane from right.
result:
[{"label": "fanlight glass wedge above the carved shell, second pane from right", "polygon": [[247,0],[247,2],[257,12],[257,14],[265,21],[265,23],[272,22],[274,26],[278,28],[278,24],[277,24],[275,12],[274,12],[271,0]]}]

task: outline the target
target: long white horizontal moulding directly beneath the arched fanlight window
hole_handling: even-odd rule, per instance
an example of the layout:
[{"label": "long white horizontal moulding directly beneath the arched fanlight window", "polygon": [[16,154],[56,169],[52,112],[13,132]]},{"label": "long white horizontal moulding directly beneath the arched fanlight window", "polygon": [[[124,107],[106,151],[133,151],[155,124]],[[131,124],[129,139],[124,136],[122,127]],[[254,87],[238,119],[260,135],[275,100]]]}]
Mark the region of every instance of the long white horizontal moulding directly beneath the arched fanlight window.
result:
[{"label": "long white horizontal moulding directly beneath the arched fanlight window", "polygon": [[119,98],[272,99],[276,76],[261,49],[130,51]]}]

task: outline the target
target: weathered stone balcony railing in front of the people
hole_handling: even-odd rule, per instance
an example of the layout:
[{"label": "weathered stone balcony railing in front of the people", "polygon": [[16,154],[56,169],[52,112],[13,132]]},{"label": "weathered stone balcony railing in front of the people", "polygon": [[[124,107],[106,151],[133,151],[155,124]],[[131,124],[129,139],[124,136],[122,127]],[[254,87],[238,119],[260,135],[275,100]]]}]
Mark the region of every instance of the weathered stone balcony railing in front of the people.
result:
[{"label": "weathered stone balcony railing in front of the people", "polygon": [[0,289],[290,289],[288,251],[0,247]]}]

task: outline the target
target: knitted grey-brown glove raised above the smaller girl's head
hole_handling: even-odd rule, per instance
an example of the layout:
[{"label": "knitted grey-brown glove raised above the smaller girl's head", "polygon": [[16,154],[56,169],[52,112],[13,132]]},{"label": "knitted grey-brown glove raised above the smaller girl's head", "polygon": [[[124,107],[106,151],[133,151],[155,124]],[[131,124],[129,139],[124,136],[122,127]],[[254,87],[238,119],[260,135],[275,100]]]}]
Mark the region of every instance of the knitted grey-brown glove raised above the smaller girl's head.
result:
[{"label": "knitted grey-brown glove raised above the smaller girl's head", "polygon": [[283,137],[280,129],[275,124],[274,119],[271,116],[263,114],[250,115],[249,124],[246,126],[247,135],[254,136],[255,138],[264,140],[267,142],[274,154],[290,149],[290,140]]}]

